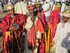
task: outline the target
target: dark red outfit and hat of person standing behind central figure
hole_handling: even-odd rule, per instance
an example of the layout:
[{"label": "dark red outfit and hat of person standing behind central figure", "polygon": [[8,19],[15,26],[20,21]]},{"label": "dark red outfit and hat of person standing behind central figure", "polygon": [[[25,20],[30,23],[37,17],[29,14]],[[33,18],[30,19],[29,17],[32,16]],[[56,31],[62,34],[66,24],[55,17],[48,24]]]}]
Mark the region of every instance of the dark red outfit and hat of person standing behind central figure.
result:
[{"label": "dark red outfit and hat of person standing behind central figure", "polygon": [[[40,5],[40,3],[36,3],[36,5],[38,5],[38,4]],[[44,12],[42,10],[38,11],[36,9],[35,13],[36,13],[36,16],[38,16],[38,18],[41,20],[44,30],[46,32],[47,27],[48,27],[48,22],[46,20],[46,16],[45,16]],[[45,38],[46,38],[45,34],[43,33],[41,40],[39,40],[39,49],[38,49],[39,52],[38,53],[45,53]],[[43,48],[43,49],[41,49],[41,48]]]}]

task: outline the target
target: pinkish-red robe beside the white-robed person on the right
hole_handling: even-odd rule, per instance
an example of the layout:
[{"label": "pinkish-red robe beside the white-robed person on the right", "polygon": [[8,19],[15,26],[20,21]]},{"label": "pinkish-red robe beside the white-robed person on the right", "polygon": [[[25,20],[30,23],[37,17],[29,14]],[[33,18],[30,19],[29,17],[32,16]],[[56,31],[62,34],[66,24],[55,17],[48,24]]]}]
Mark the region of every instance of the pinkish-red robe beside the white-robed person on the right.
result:
[{"label": "pinkish-red robe beside the white-robed person on the right", "polygon": [[57,24],[60,22],[60,13],[57,10],[53,10],[50,14],[49,23],[51,27],[51,35],[50,35],[50,45],[52,44]]}]

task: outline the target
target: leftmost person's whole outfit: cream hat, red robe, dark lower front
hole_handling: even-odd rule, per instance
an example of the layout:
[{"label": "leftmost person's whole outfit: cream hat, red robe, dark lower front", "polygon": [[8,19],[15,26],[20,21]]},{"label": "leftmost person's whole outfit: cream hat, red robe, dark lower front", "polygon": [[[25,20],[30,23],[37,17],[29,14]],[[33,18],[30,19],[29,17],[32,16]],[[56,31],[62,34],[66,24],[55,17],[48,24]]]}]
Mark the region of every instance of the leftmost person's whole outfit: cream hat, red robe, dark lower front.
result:
[{"label": "leftmost person's whole outfit: cream hat, red robe, dark lower front", "polygon": [[[13,7],[7,6],[7,10],[10,10],[10,9],[13,9]],[[8,52],[20,53],[21,52],[20,31],[23,30],[23,27],[25,25],[25,19],[26,18],[23,14],[15,14],[15,13],[13,15],[8,13],[4,17],[3,19],[4,26],[2,27],[3,53],[8,53]],[[14,29],[10,30],[10,28],[12,27]]]}]

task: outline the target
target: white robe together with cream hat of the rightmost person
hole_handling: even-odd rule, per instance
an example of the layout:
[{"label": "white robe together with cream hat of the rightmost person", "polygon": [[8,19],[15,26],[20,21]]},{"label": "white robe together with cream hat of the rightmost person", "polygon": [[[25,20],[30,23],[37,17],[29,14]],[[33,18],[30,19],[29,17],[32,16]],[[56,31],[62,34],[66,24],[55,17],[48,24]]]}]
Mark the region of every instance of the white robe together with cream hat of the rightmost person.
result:
[{"label": "white robe together with cream hat of the rightmost person", "polygon": [[[64,12],[63,16],[69,18],[70,14],[68,12]],[[68,36],[68,33],[70,33],[69,29],[70,29],[70,23],[68,21],[65,23],[62,21],[58,24],[56,34],[54,37],[55,53],[67,53],[68,48],[66,46],[66,42],[68,41],[66,41],[66,39],[69,40],[69,38],[66,38],[66,37]]]}]

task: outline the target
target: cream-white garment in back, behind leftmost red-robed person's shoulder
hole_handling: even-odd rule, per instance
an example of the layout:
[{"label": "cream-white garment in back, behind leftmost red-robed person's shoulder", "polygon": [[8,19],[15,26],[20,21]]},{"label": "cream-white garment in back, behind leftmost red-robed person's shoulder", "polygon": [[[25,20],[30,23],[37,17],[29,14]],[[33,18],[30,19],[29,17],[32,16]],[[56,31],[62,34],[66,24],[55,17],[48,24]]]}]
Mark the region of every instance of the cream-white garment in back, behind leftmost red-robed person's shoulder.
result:
[{"label": "cream-white garment in back, behind leftmost red-robed person's shoulder", "polygon": [[15,13],[27,14],[27,4],[23,1],[15,4]]}]

